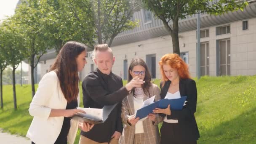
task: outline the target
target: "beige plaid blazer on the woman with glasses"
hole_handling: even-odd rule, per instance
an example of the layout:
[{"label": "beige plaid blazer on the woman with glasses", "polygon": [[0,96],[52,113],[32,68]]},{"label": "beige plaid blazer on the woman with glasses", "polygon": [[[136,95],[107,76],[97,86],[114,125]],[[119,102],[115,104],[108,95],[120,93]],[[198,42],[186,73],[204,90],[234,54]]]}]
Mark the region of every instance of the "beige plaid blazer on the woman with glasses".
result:
[{"label": "beige plaid blazer on the woman with glasses", "polygon": [[[150,93],[150,94],[149,94]],[[157,85],[152,84],[149,88],[149,93],[144,94],[144,101],[149,97],[155,95],[155,101],[160,99],[160,89]],[[130,93],[122,102],[122,121],[124,123],[124,129],[122,136],[119,139],[120,144],[133,144],[134,135],[135,135],[135,126],[129,125],[127,123],[128,115],[134,115],[134,104],[133,104],[133,94]],[[160,144],[160,134],[157,127],[159,122],[163,121],[163,118],[158,116],[156,117],[155,123],[153,123],[149,118],[143,121],[144,136],[146,144]]]}]

